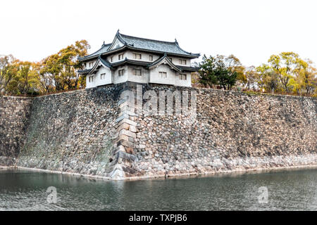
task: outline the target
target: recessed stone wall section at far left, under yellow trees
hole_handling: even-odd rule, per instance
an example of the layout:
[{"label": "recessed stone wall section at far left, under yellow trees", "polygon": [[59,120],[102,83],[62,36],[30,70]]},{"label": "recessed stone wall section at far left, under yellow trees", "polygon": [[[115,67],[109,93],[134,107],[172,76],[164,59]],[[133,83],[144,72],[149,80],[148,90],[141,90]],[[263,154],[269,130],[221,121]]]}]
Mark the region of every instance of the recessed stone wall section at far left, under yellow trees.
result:
[{"label": "recessed stone wall section at far left, under yellow trees", "polygon": [[15,163],[23,148],[32,98],[0,96],[0,165]]}]

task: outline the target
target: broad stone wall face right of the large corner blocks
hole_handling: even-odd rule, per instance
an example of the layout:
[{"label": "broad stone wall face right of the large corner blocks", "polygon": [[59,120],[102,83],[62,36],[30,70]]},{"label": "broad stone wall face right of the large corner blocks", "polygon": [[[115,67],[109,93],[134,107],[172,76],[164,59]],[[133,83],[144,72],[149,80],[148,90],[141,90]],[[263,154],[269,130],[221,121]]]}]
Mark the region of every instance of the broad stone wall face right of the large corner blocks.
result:
[{"label": "broad stone wall face right of the large corner blocks", "polygon": [[147,90],[157,96],[197,91],[197,119],[138,117],[134,167],[144,176],[317,165],[316,98],[168,86],[145,86],[143,93]]}]

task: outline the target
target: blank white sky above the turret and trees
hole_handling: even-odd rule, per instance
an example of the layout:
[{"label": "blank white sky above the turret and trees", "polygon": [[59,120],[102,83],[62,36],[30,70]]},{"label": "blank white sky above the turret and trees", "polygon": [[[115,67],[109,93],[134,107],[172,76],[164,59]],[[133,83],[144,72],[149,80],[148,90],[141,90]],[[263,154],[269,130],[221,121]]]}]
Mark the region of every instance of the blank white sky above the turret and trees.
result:
[{"label": "blank white sky above the turret and trees", "polygon": [[0,55],[38,61],[86,39],[100,48],[116,31],[216,56],[234,54],[244,65],[294,51],[317,63],[316,1],[0,1]]}]

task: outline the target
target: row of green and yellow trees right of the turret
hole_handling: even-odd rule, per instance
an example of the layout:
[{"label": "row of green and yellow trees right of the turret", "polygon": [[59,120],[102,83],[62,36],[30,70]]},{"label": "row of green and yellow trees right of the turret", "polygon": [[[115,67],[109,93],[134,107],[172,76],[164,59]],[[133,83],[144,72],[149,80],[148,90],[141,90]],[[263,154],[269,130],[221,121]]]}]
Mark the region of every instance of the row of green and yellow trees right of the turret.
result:
[{"label": "row of green and yellow trees right of the turret", "polygon": [[[227,80],[231,82],[230,87],[235,84],[236,87],[247,90],[317,96],[317,70],[313,62],[303,60],[292,51],[272,55],[268,63],[258,67],[244,67],[233,55],[209,58],[204,56],[199,65],[201,67],[199,82],[204,86],[221,88],[223,85],[218,79],[223,74],[227,75],[223,72],[225,70],[235,75],[235,80]],[[225,86],[223,88],[226,89]]]}]

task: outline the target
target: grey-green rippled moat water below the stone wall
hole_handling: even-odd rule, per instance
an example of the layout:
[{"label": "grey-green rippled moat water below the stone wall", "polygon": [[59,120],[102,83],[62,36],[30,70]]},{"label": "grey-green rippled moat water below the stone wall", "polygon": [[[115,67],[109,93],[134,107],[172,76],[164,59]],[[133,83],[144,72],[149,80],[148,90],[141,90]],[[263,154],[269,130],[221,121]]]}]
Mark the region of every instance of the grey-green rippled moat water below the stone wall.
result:
[{"label": "grey-green rippled moat water below the stone wall", "polygon": [[140,181],[0,169],[0,210],[317,210],[317,169]]}]

